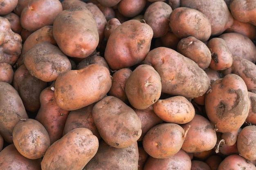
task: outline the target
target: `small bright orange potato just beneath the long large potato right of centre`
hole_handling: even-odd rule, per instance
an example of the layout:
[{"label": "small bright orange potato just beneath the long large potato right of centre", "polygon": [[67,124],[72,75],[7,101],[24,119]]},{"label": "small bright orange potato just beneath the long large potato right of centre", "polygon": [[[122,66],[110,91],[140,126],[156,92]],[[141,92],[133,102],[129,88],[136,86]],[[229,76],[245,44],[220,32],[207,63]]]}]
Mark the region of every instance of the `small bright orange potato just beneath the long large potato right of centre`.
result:
[{"label": "small bright orange potato just beneath the long large potato right of centre", "polygon": [[153,110],[163,121],[175,124],[186,124],[195,116],[193,104],[183,96],[159,99],[153,104]]}]

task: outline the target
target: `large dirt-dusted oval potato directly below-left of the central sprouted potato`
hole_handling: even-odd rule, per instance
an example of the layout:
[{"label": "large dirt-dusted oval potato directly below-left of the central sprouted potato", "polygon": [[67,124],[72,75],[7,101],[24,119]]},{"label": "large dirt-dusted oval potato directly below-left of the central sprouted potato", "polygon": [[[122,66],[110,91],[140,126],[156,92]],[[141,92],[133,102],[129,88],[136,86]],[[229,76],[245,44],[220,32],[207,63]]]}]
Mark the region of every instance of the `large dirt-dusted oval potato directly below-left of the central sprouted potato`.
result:
[{"label": "large dirt-dusted oval potato directly below-left of the central sprouted potato", "polygon": [[117,97],[107,96],[97,102],[92,117],[102,139],[112,147],[126,148],[141,136],[139,117]]}]

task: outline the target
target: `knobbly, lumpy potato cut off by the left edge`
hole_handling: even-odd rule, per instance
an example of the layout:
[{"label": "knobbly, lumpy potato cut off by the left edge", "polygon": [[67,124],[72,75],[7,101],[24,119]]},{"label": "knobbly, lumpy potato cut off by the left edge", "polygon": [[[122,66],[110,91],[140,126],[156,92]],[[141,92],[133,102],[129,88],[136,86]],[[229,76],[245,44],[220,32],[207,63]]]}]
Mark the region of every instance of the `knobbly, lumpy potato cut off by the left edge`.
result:
[{"label": "knobbly, lumpy potato cut off by the left edge", "polygon": [[7,18],[0,16],[0,63],[6,62],[13,66],[18,60],[22,49],[22,39],[11,30],[11,24]]}]

